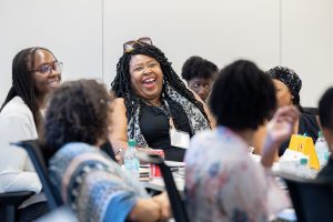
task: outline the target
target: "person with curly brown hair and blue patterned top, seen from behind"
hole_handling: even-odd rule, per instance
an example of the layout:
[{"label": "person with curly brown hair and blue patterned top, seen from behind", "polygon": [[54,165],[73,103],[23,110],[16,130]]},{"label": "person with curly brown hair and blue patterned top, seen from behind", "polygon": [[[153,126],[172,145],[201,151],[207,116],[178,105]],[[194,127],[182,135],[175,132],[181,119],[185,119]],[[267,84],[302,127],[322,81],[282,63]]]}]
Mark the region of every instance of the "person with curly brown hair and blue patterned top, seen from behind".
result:
[{"label": "person with curly brown hair and blue patterned top, seen from behind", "polygon": [[95,80],[65,82],[53,93],[44,129],[51,182],[78,221],[168,219],[167,194],[150,198],[99,149],[108,141],[111,100]]}]

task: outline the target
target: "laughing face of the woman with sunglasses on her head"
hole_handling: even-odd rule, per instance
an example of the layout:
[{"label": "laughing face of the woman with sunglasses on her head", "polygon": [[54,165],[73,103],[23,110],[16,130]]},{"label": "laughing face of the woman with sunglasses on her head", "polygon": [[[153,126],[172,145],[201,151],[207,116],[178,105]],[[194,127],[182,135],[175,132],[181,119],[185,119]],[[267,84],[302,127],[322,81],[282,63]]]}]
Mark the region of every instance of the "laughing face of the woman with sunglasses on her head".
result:
[{"label": "laughing face of the woman with sunglasses on her head", "polygon": [[135,54],[130,60],[131,85],[134,93],[152,104],[160,104],[163,73],[160,63],[151,57]]}]

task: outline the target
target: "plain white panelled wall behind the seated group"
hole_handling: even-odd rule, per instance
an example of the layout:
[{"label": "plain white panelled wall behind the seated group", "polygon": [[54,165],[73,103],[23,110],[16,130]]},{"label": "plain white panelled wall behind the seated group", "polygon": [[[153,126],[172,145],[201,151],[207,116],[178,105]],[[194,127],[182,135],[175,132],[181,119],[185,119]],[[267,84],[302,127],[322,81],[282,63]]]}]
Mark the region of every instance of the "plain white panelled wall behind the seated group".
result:
[{"label": "plain white panelled wall behind the seated group", "polygon": [[193,54],[221,68],[241,58],[264,70],[289,65],[303,79],[302,103],[316,105],[333,84],[332,11],[331,0],[0,0],[0,101],[20,49],[51,49],[63,80],[110,85],[122,43],[149,36],[178,73]]}]

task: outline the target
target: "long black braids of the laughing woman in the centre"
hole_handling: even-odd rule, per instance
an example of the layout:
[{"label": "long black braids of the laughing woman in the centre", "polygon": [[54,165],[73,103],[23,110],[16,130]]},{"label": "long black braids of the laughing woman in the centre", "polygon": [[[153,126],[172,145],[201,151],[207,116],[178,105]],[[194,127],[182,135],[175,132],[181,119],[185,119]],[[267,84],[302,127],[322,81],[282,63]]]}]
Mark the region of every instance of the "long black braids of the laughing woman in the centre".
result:
[{"label": "long black braids of the laughing woman in the centre", "polygon": [[[168,61],[164,53],[157,47],[150,46],[147,43],[137,43],[133,47],[134,49],[130,52],[124,52],[123,56],[119,59],[117,64],[117,75],[111,83],[111,88],[118,98],[124,99],[124,104],[127,107],[127,117],[131,117],[133,111],[137,110],[142,104],[142,99],[140,99],[133,91],[131,87],[131,74],[130,74],[130,61],[134,54],[144,54],[151,58],[154,58],[161,65],[163,72],[163,81],[168,82],[175,91],[181,95],[186,98],[192,102],[205,117],[208,115],[204,112],[203,105],[199,102],[194,94],[185,87],[183,81],[174,72],[171,67],[171,62]],[[163,84],[162,93],[165,94],[165,85]]]}]

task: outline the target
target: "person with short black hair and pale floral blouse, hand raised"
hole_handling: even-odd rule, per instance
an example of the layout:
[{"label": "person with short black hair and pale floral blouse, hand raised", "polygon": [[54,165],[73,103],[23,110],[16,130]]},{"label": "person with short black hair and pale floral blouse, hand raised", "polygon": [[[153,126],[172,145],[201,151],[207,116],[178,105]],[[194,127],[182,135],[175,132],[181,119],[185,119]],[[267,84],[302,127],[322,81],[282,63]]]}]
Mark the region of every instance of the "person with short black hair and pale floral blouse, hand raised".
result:
[{"label": "person with short black hair and pale floral blouse, hand raised", "polygon": [[[268,221],[290,204],[268,170],[276,149],[292,132],[297,109],[283,107],[274,113],[272,80],[245,60],[219,73],[209,105],[218,127],[194,135],[185,155],[191,221]],[[249,144],[270,118],[260,164],[249,155]]]}]

